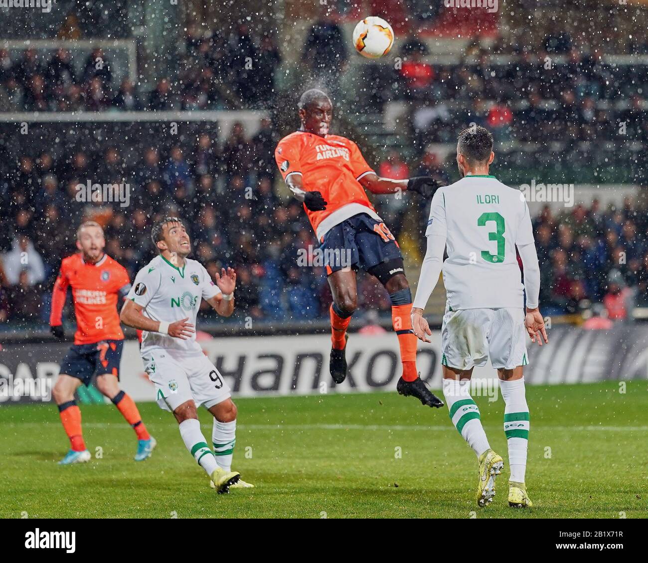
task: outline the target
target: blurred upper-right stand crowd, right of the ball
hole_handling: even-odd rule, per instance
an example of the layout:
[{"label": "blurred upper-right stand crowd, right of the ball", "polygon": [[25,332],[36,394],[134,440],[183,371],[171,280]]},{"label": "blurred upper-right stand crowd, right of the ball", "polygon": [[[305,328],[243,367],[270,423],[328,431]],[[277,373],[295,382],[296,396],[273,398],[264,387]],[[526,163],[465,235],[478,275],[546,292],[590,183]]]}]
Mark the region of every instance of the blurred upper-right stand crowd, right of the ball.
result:
[{"label": "blurred upper-right stand crowd, right of the ball", "polygon": [[417,40],[402,51],[393,76],[375,69],[378,99],[410,102],[412,128],[428,143],[451,142],[467,120],[489,127],[496,141],[648,140],[648,64],[611,64],[575,47],[561,60],[529,51],[497,60],[477,49],[452,66],[432,64]]}]

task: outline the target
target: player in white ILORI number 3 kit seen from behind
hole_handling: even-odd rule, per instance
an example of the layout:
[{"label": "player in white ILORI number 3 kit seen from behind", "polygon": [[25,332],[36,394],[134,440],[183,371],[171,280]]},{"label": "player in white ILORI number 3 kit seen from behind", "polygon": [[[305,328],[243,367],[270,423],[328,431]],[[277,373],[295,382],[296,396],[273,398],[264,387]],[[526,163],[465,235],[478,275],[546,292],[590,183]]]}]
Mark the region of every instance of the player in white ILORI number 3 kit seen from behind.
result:
[{"label": "player in white ILORI number 3 kit seen from behind", "polygon": [[[428,250],[412,326],[419,339],[430,342],[432,332],[422,314],[443,268],[447,293],[441,327],[443,394],[452,424],[478,457],[477,503],[483,507],[492,501],[495,477],[503,467],[502,457],[489,446],[480,411],[470,397],[472,369],[485,365],[490,356],[505,402],[504,432],[511,464],[509,505],[531,507],[524,484],[529,440],[529,407],[522,377],[522,366],[528,363],[525,328],[531,341],[540,346],[548,339],[538,311],[540,269],[529,208],[519,190],[489,175],[493,158],[489,131],[483,127],[461,131],[457,165],[462,178],[441,187],[432,199]],[[524,285],[516,246],[524,266]]]}]

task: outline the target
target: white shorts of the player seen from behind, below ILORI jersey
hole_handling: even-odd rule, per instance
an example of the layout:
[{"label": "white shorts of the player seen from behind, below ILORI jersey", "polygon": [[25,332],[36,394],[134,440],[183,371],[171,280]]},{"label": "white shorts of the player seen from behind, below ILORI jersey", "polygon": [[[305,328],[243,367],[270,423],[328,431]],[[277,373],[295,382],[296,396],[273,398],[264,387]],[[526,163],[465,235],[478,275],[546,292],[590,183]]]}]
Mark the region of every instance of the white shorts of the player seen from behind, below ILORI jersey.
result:
[{"label": "white shorts of the player seen from behind, below ILORI jersey", "polygon": [[457,370],[486,365],[495,369],[527,365],[527,331],[522,309],[447,311],[441,326],[441,363]]}]

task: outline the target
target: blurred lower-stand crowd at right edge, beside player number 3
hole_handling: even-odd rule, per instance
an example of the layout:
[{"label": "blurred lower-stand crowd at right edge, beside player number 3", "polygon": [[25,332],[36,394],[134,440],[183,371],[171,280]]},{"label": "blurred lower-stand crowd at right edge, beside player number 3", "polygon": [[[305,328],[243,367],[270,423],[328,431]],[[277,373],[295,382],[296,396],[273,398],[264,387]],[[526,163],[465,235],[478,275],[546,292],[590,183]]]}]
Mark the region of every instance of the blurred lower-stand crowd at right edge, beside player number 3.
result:
[{"label": "blurred lower-stand crowd at right edge, beside player number 3", "polygon": [[592,304],[610,320],[648,306],[648,213],[625,198],[619,208],[576,205],[533,221],[545,315],[581,313]]}]

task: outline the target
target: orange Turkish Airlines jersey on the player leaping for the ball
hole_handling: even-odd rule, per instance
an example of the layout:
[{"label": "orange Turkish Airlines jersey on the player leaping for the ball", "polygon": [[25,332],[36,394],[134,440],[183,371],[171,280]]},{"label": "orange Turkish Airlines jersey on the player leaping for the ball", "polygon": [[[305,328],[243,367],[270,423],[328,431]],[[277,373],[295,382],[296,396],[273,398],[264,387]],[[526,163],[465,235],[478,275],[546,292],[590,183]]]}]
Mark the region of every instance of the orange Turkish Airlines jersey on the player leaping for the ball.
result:
[{"label": "orange Turkish Airlines jersey on the player leaping for the ball", "polygon": [[358,213],[380,219],[358,182],[373,169],[353,141],[338,135],[320,137],[295,131],[279,141],[275,160],[284,180],[290,174],[301,174],[304,190],[321,192],[327,202],[323,211],[304,206],[319,241],[330,228]]}]

